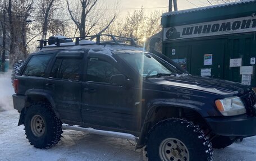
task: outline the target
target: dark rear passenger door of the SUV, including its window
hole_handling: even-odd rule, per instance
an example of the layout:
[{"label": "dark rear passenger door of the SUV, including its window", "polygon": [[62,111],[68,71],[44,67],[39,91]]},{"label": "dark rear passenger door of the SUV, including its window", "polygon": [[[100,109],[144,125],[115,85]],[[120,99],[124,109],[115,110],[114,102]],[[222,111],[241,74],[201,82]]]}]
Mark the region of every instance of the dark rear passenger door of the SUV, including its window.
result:
[{"label": "dark rear passenger door of the SUV, including its window", "polygon": [[53,61],[45,91],[53,96],[60,117],[81,122],[81,75],[84,52],[60,52]]}]

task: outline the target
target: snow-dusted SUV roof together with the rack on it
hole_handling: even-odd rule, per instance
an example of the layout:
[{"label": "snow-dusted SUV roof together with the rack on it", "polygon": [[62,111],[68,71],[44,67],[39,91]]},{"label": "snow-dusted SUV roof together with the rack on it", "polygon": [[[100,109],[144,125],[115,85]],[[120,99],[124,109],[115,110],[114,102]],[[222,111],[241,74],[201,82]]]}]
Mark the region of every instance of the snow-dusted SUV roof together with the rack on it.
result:
[{"label": "snow-dusted SUV roof together with the rack on it", "polygon": [[[103,36],[111,38],[110,40],[103,39]],[[100,39],[103,40],[100,40]],[[74,39],[75,42],[72,40]],[[89,39],[89,40],[86,40]],[[96,41],[93,41],[95,40]],[[65,42],[65,40],[68,40]],[[71,41],[70,41],[71,40]],[[109,54],[113,50],[140,50],[140,48],[134,39],[125,38],[122,36],[115,35],[92,35],[92,36],[81,36],[76,38],[66,38],[65,36],[57,35],[51,36],[49,39],[38,40],[40,42],[39,52],[49,51],[49,50],[98,50],[100,53]],[[53,42],[52,42],[53,41]],[[51,45],[47,45],[47,43]],[[129,44],[130,43],[130,44]]]}]

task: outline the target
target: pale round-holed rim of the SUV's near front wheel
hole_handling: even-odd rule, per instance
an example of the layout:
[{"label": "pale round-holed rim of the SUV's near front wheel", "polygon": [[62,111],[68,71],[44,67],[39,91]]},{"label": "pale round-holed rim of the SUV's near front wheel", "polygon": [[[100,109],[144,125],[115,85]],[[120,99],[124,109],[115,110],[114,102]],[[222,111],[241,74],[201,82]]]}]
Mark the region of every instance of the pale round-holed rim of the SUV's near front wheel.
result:
[{"label": "pale round-holed rim of the SUV's near front wheel", "polygon": [[159,146],[159,156],[162,161],[188,161],[189,150],[179,139],[167,138]]}]

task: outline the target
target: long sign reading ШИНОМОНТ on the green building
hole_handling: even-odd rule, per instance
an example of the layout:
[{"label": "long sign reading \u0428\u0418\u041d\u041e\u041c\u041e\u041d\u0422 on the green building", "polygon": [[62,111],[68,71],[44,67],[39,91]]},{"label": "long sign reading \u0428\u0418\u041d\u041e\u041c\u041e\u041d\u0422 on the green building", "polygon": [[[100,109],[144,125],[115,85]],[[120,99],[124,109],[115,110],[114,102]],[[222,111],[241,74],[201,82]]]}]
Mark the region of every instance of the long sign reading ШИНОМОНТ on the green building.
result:
[{"label": "long sign reading \u0428\u0418\u041d\u041e\u041c\u041e\u041d\u0422 on the green building", "polygon": [[163,29],[163,40],[179,40],[256,31],[255,17],[240,17],[220,21],[167,27]]}]

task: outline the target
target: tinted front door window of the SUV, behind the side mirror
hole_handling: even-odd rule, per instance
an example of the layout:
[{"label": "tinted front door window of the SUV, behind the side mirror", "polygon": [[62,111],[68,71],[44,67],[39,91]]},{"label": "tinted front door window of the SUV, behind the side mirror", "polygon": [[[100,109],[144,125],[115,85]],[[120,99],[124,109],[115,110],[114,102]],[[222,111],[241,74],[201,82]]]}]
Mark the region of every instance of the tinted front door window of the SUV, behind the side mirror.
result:
[{"label": "tinted front door window of the SUV, behind the side mirror", "polygon": [[112,75],[120,72],[111,63],[102,61],[98,58],[90,58],[87,68],[87,80],[95,82],[109,82]]}]

